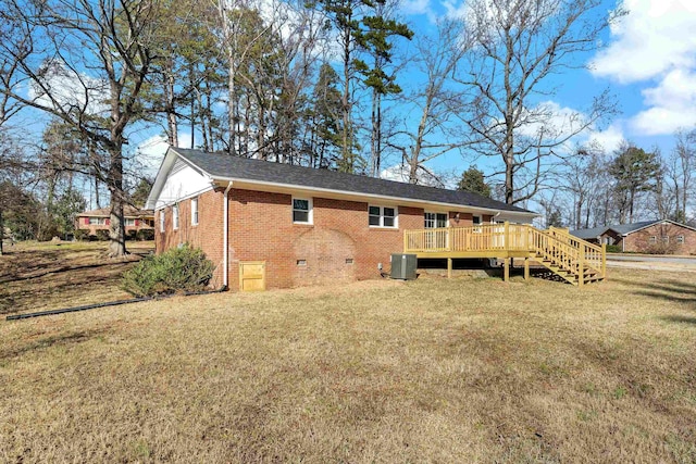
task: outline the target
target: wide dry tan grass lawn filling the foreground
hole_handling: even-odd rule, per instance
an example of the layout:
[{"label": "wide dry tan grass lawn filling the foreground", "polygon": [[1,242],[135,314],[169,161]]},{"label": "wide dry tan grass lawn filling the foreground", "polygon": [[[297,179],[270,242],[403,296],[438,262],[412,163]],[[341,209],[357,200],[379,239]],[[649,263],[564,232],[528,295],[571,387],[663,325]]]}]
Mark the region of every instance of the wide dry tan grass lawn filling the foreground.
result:
[{"label": "wide dry tan grass lawn filling the foreground", "polygon": [[2,319],[0,461],[693,463],[695,354],[693,274],[629,269]]}]

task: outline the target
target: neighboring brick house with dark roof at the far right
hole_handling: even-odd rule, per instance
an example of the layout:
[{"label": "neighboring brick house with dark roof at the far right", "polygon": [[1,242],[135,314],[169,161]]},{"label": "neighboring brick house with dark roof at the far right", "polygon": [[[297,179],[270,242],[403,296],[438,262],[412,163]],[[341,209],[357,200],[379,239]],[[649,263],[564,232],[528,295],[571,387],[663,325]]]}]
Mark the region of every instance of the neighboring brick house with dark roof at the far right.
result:
[{"label": "neighboring brick house with dark roof at the far right", "polygon": [[674,221],[644,221],[572,230],[591,243],[621,247],[638,253],[696,254],[696,228]]}]

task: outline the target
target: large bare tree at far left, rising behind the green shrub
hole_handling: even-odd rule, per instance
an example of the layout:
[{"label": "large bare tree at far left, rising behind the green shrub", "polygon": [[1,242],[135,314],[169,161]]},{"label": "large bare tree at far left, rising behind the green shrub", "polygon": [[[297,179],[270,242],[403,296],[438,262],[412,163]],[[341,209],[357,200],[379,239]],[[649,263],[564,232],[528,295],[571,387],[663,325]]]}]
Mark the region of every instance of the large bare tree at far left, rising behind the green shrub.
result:
[{"label": "large bare tree at far left, rising behind the green shrub", "polygon": [[[16,72],[28,96],[3,95],[62,120],[108,154],[99,165],[111,195],[110,256],[126,253],[123,206],[125,130],[138,117],[138,96],[153,57],[149,43],[158,2],[148,0],[2,0],[0,11],[25,35],[0,43],[3,60],[17,60]],[[30,28],[34,27],[34,30]]]}]

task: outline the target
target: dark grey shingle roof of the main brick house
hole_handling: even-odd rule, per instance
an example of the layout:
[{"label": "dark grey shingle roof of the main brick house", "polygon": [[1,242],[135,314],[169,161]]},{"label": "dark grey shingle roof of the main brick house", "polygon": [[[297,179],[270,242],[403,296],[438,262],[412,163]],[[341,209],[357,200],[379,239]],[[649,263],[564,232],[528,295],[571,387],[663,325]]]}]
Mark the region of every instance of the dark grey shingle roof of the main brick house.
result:
[{"label": "dark grey shingle roof of the main brick house", "polygon": [[534,214],[532,211],[467,191],[403,184],[328,170],[313,170],[222,153],[208,153],[200,150],[181,148],[172,148],[172,150],[213,178],[248,179]]}]

